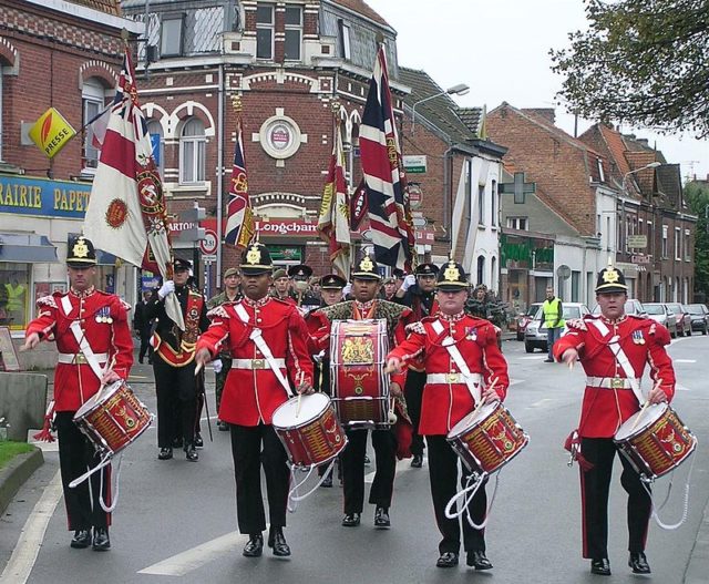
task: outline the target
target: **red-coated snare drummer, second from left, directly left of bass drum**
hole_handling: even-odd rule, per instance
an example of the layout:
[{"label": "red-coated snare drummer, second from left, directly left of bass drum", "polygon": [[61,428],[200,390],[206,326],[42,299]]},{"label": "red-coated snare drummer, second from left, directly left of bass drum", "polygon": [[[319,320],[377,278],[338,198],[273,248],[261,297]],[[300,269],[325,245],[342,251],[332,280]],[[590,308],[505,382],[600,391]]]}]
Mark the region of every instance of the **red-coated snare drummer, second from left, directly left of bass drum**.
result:
[{"label": "red-coated snare drummer, second from left, directly left of bass drum", "polygon": [[232,432],[238,526],[249,536],[243,553],[258,557],[264,551],[263,464],[270,520],[268,546],[276,556],[289,556],[282,531],[289,470],[271,419],[288,400],[289,385],[298,392],[312,391],[308,330],[295,305],[268,295],[274,266],[266,246],[247,247],[240,268],[244,298],[209,311],[212,326],[199,337],[196,361],[204,366],[225,349],[232,355],[219,419]]}]

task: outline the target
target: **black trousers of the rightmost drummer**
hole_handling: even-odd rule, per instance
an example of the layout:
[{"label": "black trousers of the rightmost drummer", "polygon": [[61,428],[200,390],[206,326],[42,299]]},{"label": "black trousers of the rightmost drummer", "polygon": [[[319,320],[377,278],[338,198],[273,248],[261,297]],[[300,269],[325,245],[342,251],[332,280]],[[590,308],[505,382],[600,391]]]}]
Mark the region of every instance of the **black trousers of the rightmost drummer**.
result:
[{"label": "black trousers of the rightmost drummer", "polygon": [[[608,491],[616,445],[612,438],[583,438],[580,450],[594,467],[580,471],[580,495],[584,523],[584,557],[608,557]],[[628,551],[643,552],[650,522],[651,501],[640,475],[627,459],[623,463],[620,484],[628,493]]]}]

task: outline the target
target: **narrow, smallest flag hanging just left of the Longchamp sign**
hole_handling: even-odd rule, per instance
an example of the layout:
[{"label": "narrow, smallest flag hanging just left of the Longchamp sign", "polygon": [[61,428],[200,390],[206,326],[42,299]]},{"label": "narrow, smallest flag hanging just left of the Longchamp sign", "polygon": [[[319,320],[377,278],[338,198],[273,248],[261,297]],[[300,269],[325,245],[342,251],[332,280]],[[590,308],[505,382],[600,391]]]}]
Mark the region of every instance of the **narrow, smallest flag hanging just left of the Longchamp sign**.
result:
[{"label": "narrow, smallest flag hanging just left of the Longchamp sign", "polygon": [[255,233],[256,225],[251,202],[248,196],[242,116],[239,115],[236,125],[236,148],[234,152],[234,167],[232,168],[229,201],[226,205],[224,240],[229,245],[246,248],[251,243]]}]

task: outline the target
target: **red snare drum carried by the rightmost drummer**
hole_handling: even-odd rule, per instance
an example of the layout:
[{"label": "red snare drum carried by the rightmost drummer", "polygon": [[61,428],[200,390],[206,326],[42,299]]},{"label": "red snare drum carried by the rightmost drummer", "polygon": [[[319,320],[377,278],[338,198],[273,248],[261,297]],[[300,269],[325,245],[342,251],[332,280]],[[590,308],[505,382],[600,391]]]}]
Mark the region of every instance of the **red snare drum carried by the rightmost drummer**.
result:
[{"label": "red snare drum carried by the rightmost drummer", "polygon": [[634,413],[620,426],[614,442],[648,481],[679,467],[697,448],[695,434],[667,403]]}]

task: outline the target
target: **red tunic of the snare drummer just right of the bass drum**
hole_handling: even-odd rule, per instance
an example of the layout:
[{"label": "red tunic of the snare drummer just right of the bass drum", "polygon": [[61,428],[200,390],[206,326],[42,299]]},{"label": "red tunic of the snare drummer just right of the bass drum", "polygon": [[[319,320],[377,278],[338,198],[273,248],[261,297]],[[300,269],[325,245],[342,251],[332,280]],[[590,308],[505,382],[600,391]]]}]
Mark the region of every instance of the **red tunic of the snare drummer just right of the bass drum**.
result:
[{"label": "red tunic of the snare drummer just right of the bass drum", "polygon": [[[389,357],[397,357],[402,361],[420,359],[427,375],[460,372],[460,368],[442,345],[443,339],[450,335],[472,373],[481,373],[487,386],[493,379],[497,379],[495,390],[500,399],[504,400],[510,378],[507,362],[497,348],[494,325],[469,315],[463,315],[452,322],[440,317],[441,315],[438,315],[421,320],[422,328],[414,327],[409,338],[390,351]],[[433,330],[433,322],[436,320],[443,325],[440,335]],[[474,407],[474,399],[464,382],[427,383],[423,388],[419,433],[448,434],[449,430]]]}]

